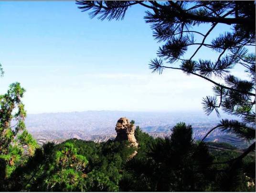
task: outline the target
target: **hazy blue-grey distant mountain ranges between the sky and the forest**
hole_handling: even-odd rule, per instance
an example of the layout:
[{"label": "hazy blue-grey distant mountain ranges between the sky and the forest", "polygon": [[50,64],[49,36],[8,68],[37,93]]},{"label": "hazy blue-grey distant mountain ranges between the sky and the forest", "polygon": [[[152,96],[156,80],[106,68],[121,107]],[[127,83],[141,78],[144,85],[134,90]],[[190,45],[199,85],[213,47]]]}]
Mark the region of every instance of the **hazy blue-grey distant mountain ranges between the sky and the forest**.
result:
[{"label": "hazy blue-grey distant mountain ranges between the sky and the forest", "polygon": [[[54,140],[62,142],[71,138],[102,142],[116,136],[115,126],[120,117],[135,120],[135,125],[153,137],[170,135],[177,122],[186,122],[192,125],[196,140],[202,139],[221,119],[235,118],[225,114],[218,118],[214,113],[206,116],[203,112],[85,111],[28,114],[25,122],[39,143]],[[219,130],[209,135],[208,141],[234,142],[240,147],[245,144],[234,135]]]}]

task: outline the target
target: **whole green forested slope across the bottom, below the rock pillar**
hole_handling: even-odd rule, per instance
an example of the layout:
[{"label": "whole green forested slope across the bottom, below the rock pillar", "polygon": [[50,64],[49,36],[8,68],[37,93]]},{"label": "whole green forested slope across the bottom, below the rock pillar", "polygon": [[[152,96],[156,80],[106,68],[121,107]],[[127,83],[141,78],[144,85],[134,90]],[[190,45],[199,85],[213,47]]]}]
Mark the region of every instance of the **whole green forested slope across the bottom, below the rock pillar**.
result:
[{"label": "whole green forested slope across the bottom, below the rock pillar", "polygon": [[[192,127],[178,123],[166,139],[153,139],[136,128],[138,154],[128,141],[95,143],[70,139],[48,143],[17,165],[1,173],[2,191],[254,191],[255,156],[242,167],[226,162],[240,153],[211,149],[216,143],[192,140]],[[1,170],[3,171],[3,170]]]}]

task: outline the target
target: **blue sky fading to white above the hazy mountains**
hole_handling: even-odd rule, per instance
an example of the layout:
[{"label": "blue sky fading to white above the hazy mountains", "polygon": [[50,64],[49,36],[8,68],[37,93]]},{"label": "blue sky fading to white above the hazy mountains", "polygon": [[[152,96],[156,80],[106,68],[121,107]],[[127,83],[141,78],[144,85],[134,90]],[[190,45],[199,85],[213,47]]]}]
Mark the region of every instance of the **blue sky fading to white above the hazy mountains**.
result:
[{"label": "blue sky fading to white above the hazy mountains", "polygon": [[[74,1],[0,1],[0,93],[20,82],[28,113],[202,110],[202,98],[213,95],[211,83],[181,71],[149,70],[161,44],[143,19],[145,10],[134,6],[124,20],[101,21]],[[214,56],[200,51],[195,59]],[[234,74],[244,73],[237,68]]]}]

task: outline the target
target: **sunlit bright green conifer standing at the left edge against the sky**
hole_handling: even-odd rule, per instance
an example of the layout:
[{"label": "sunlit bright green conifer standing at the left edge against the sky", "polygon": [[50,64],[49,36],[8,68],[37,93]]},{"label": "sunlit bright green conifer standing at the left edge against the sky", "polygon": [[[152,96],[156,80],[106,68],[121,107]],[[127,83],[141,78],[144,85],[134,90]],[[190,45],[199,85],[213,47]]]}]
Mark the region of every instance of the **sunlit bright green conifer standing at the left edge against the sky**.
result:
[{"label": "sunlit bright green conifer standing at the left edge against the sky", "polygon": [[[0,95],[0,159],[5,163],[9,176],[20,160],[33,155],[38,147],[32,135],[25,129],[26,111],[21,102],[25,89],[20,83],[12,83],[6,94]],[[17,109],[17,112],[15,110]]]}]

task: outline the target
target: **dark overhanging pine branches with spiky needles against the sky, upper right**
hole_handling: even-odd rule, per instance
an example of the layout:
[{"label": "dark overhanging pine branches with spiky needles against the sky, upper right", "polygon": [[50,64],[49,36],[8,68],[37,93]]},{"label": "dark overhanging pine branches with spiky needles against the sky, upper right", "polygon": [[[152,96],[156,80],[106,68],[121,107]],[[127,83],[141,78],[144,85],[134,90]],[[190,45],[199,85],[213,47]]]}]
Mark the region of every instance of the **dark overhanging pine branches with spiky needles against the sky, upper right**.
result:
[{"label": "dark overhanging pine branches with spiky needles against the sky, upper right", "polygon": [[[203,98],[203,110],[220,116],[219,109],[242,119],[222,120],[214,129],[235,133],[247,141],[255,140],[255,1],[77,1],[82,11],[91,11],[90,17],[104,20],[122,20],[132,5],[148,10],[144,19],[151,25],[153,37],[163,43],[152,59],[149,68],[162,73],[164,69],[180,70],[213,83],[214,96]],[[202,33],[197,26],[208,24]],[[216,37],[213,30],[218,25],[232,29],[221,31]],[[195,40],[195,37],[197,40]],[[192,46],[198,46],[188,55]],[[216,53],[214,61],[195,57],[199,51]],[[242,66],[250,78],[234,76],[230,69]],[[217,80],[215,80],[215,79]],[[224,83],[223,83],[224,82]],[[210,133],[208,132],[207,135]],[[207,135],[205,137],[207,137]],[[203,138],[203,140],[205,139]],[[237,159],[255,150],[255,142]],[[235,159],[235,160],[237,160]],[[235,161],[235,160],[232,160]]]}]

